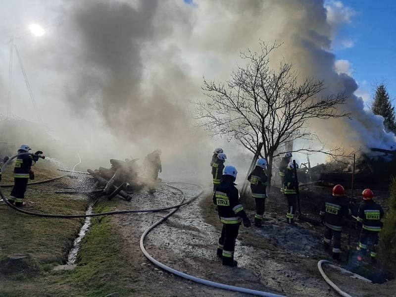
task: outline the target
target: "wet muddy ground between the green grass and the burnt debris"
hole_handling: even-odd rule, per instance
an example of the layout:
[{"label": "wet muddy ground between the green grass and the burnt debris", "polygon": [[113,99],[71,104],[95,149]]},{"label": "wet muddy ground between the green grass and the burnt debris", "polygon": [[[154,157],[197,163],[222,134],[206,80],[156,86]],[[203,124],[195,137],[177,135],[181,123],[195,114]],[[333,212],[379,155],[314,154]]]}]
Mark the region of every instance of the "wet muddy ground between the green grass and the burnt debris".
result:
[{"label": "wet muddy ground between the green grass and the burnt debris", "polygon": [[[188,190],[189,195],[199,190],[184,184],[173,185]],[[160,185],[154,195],[140,195],[131,203],[157,207],[174,204],[179,199],[177,191]],[[284,201],[276,199],[269,199],[268,203],[278,203],[286,209]],[[122,204],[127,206],[127,202]],[[322,229],[299,223],[289,226],[283,212],[274,212],[275,208],[282,207],[268,208],[274,217],[266,214],[262,229],[241,227],[236,247],[238,268],[222,266],[215,256],[221,224],[212,205],[210,188],[201,199],[181,208],[149,233],[146,246],[154,258],[164,264],[206,280],[287,296],[337,296],[323,281],[316,266],[319,259],[329,258],[320,245]],[[248,211],[248,215],[252,219],[254,213]],[[160,217],[160,213],[117,217],[116,223],[134,264],[143,268],[135,279],[137,292],[144,296],[244,296],[186,282],[151,265],[139,252],[138,243],[143,231]],[[330,274],[331,271],[329,269]],[[349,276],[337,277],[340,287],[352,296],[373,296],[379,290],[383,296],[392,296],[395,289],[394,285],[371,285]],[[153,284],[152,278],[158,282]],[[188,285],[183,286],[186,283]]]}]

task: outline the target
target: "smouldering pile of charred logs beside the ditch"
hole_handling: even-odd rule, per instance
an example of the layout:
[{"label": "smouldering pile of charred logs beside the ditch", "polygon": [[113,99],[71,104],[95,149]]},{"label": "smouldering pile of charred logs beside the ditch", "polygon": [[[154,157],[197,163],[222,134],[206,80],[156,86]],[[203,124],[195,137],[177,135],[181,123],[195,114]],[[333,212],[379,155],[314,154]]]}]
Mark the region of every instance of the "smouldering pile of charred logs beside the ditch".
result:
[{"label": "smouldering pile of charred logs beside the ditch", "polygon": [[88,173],[96,180],[92,192],[102,193],[109,200],[115,196],[130,201],[130,194],[147,186],[147,181],[138,176],[138,159],[125,159],[125,161],[110,159],[110,168],[99,167],[95,171],[88,169]]}]

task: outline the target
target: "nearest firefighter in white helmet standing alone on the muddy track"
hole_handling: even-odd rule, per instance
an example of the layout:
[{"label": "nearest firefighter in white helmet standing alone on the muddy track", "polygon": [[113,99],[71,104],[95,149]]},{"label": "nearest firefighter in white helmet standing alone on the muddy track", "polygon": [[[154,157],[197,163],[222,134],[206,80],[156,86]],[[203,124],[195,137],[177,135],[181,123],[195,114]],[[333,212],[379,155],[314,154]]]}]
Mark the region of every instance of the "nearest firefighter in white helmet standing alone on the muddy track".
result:
[{"label": "nearest firefighter in white helmet standing alone on the muddy track", "polygon": [[245,227],[250,227],[244,206],[239,200],[239,192],[235,187],[237,169],[226,166],[220,184],[213,195],[213,203],[218,207],[218,213],[223,229],[217,246],[217,255],[222,257],[223,265],[237,266],[234,261],[235,241],[238,236],[239,226],[243,221]]}]

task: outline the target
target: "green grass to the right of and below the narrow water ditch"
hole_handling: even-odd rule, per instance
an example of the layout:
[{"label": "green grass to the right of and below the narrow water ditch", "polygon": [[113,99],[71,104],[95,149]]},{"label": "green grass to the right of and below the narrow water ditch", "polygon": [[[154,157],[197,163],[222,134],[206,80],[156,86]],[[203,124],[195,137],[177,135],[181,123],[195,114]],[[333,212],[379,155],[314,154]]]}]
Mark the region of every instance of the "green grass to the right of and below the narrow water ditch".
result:
[{"label": "green grass to the right of and below the narrow water ditch", "polygon": [[[111,211],[115,205],[116,201],[106,200],[96,206],[94,212]],[[92,218],[74,270],[52,272],[52,264],[42,264],[40,273],[32,277],[0,276],[3,285],[0,296],[102,297],[115,292],[117,296],[131,296],[134,292],[131,283],[134,271],[123,253],[121,237],[111,216]]]}]

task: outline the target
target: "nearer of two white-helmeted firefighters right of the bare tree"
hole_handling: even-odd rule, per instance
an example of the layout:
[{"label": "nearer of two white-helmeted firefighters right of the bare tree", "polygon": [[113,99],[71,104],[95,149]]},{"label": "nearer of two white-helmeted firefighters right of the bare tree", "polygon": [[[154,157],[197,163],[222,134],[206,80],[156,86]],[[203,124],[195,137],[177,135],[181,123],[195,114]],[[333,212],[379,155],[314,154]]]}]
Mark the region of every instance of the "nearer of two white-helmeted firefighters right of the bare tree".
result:
[{"label": "nearer of two white-helmeted firefighters right of the bare tree", "polygon": [[[298,165],[296,163],[296,166],[298,168]],[[284,194],[286,198],[288,199],[288,212],[286,213],[286,221],[288,224],[293,224],[294,223],[294,214],[296,213],[296,200],[297,200],[297,187],[298,184],[296,184],[296,177],[294,174],[294,163],[290,162],[287,166],[286,172],[285,172],[285,183],[283,185],[284,188]]]}]

